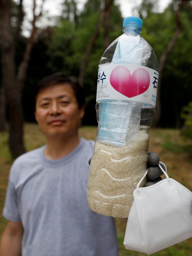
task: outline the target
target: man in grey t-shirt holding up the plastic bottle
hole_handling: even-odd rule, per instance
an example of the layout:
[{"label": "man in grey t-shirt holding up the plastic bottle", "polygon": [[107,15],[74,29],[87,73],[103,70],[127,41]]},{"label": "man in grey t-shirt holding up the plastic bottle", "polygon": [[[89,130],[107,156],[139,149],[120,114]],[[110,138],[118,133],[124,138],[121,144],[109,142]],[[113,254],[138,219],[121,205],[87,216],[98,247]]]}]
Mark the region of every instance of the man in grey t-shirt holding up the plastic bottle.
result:
[{"label": "man in grey t-shirt holding up the plastic bottle", "polygon": [[47,144],[11,167],[1,256],[119,255],[115,219],[87,203],[95,142],[78,135],[84,106],[82,87],[72,77],[53,74],[35,88],[35,119]]}]

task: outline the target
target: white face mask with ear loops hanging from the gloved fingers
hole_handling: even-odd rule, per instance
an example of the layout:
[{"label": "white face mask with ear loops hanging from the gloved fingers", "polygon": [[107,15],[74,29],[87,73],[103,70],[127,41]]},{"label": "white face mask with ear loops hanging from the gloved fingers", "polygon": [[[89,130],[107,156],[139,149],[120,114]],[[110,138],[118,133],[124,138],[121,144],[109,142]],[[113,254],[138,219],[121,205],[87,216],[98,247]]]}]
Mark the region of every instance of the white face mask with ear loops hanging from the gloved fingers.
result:
[{"label": "white face mask with ear loops hanging from the gloved fingers", "polygon": [[124,245],[148,255],[192,237],[192,192],[169,178],[134,191]]}]

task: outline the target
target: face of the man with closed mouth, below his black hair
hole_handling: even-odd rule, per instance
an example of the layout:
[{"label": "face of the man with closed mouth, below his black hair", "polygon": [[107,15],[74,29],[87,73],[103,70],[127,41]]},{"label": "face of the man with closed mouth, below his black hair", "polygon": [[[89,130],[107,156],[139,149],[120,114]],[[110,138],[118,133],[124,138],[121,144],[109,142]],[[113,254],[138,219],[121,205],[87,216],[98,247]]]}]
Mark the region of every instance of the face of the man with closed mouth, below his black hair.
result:
[{"label": "face of the man with closed mouth, below his black hair", "polygon": [[46,137],[77,134],[83,115],[69,84],[49,86],[37,95],[35,119]]}]

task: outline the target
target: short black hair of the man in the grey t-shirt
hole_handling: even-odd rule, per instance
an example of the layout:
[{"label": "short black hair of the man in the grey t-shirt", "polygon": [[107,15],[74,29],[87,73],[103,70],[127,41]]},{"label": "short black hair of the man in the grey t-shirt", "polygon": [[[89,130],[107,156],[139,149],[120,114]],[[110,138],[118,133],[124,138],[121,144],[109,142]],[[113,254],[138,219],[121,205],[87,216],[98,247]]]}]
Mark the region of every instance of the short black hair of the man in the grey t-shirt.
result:
[{"label": "short black hair of the man in the grey t-shirt", "polygon": [[85,94],[82,86],[80,86],[78,80],[76,77],[73,76],[66,76],[62,73],[55,73],[49,76],[44,77],[39,81],[37,86],[35,86],[33,91],[33,101],[32,101],[32,108],[35,112],[35,104],[37,100],[37,95],[39,91],[42,89],[46,89],[49,86],[52,85],[58,85],[58,84],[69,84],[74,92],[74,95],[76,97],[76,100],[78,102],[79,109],[85,105]]}]

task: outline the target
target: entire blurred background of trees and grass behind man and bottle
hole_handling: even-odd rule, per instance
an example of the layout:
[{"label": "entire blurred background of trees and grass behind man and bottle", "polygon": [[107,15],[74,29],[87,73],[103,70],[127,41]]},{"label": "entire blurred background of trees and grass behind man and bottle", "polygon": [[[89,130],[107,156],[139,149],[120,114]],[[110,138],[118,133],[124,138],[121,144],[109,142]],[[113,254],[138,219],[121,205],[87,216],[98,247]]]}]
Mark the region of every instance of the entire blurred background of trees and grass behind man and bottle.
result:
[{"label": "entire blurred background of trees and grass behind man and bottle", "polygon": [[[13,159],[46,143],[31,107],[33,87],[55,72],[76,76],[86,95],[80,136],[95,140],[98,64],[123,33],[118,0],[85,0],[81,9],[80,0],[60,0],[61,15],[54,17],[45,11],[48,1],[56,5],[56,0],[0,0],[0,235],[7,223],[1,212]],[[159,12],[161,1],[141,0],[138,6],[135,1],[133,10],[160,64],[149,151],[161,156],[170,177],[191,190],[192,1],[170,0]],[[144,255],[125,250],[126,223],[116,222],[119,255]],[[191,239],[154,255],[191,256]]]}]

